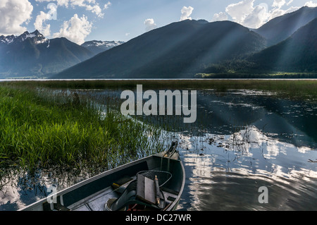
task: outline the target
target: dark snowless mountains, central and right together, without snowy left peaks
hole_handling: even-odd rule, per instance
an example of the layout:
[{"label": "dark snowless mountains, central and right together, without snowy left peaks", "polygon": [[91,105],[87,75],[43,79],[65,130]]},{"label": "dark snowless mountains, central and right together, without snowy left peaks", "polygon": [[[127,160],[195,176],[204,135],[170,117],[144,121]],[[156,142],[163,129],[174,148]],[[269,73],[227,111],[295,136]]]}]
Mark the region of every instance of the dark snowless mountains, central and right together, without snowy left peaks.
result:
[{"label": "dark snowless mountains, central and right together, without snowy left peaks", "polygon": [[304,6],[256,30],[230,21],[171,23],[53,78],[194,78],[197,73],[232,71],[316,72],[316,11]]}]

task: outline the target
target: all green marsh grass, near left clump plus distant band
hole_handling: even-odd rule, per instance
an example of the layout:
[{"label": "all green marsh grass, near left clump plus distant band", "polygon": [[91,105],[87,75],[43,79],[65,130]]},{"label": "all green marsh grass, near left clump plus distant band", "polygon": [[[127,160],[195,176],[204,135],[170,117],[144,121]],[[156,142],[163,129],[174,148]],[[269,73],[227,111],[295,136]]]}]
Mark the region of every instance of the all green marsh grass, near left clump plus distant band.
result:
[{"label": "all green marsh grass, near left clump plus distant band", "polygon": [[[80,90],[266,90],[317,99],[317,80],[19,80],[0,83],[0,167],[111,169],[163,150],[161,123],[120,114],[118,99]],[[99,104],[99,103],[101,104]],[[108,107],[107,107],[108,106]],[[111,106],[111,107],[109,107]],[[111,109],[110,109],[111,108]],[[167,128],[167,130],[169,130]],[[148,135],[151,134],[151,135]]]}]

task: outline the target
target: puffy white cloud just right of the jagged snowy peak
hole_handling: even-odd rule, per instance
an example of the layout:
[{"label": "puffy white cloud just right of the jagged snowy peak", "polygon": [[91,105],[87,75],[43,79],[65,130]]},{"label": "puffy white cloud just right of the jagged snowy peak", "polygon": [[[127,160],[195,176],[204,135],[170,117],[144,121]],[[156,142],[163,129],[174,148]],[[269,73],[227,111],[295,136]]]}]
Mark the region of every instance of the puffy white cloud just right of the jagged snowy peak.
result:
[{"label": "puffy white cloud just right of the jagged snowy peak", "polygon": [[54,37],[66,37],[76,44],[85,42],[85,38],[92,31],[92,23],[89,23],[84,15],[81,18],[75,14],[70,20],[64,21],[61,30],[54,33]]}]

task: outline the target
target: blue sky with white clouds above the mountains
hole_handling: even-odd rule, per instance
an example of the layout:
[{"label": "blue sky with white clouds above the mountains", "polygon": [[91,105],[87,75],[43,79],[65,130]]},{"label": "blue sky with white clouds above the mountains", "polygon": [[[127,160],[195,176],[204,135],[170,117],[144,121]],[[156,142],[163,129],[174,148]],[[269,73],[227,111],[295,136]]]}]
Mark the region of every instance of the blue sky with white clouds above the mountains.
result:
[{"label": "blue sky with white clouds above the mountains", "polygon": [[317,0],[0,0],[0,35],[124,41],[180,20],[231,20],[259,28]]}]

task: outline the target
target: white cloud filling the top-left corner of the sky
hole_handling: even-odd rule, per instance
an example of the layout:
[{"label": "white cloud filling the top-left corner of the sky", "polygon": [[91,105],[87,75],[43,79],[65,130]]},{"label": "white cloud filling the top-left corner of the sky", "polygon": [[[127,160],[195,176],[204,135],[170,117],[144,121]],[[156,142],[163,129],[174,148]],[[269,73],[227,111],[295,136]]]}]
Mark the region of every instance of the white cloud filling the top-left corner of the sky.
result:
[{"label": "white cloud filling the top-left corner of the sky", "polygon": [[28,0],[0,0],[0,34],[19,35],[27,28],[33,6]]}]

